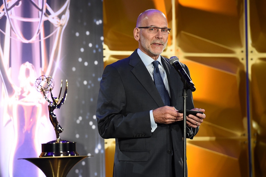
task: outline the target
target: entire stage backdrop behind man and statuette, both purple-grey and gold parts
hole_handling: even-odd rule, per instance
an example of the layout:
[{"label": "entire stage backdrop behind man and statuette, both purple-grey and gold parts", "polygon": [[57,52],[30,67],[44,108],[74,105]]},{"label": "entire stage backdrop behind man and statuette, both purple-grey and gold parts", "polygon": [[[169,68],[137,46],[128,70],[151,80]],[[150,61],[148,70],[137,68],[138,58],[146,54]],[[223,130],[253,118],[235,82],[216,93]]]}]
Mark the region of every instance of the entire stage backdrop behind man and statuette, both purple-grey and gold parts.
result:
[{"label": "entire stage backdrop behind man and statuette, both purple-grey and gold parts", "polygon": [[[16,14],[39,18],[29,1],[21,2]],[[66,2],[47,1],[53,9],[47,15]],[[35,78],[43,73],[53,75],[55,96],[61,79],[63,89],[69,82],[66,102],[55,110],[64,128],[61,138],[77,142],[80,155],[93,155],[68,176],[105,176],[105,160],[106,176],[112,176],[113,140],[104,146],[95,118],[100,77],[104,66],[137,48],[133,29],[138,15],[150,8],[164,12],[172,28],[163,55],[178,56],[189,66],[197,89],[194,104],[206,110],[200,132],[187,141],[189,176],[266,176],[265,1],[70,1],[66,24],[44,22],[43,36],[58,27],[62,36],[56,38],[56,31],[43,43],[40,37],[28,41],[36,22],[15,27],[27,40],[16,36],[2,1],[0,6],[0,176],[43,176],[31,163],[17,160],[38,157],[40,144],[55,139],[48,102],[34,92]],[[62,20],[66,12],[56,15]],[[49,61],[53,68],[47,72]]]}]

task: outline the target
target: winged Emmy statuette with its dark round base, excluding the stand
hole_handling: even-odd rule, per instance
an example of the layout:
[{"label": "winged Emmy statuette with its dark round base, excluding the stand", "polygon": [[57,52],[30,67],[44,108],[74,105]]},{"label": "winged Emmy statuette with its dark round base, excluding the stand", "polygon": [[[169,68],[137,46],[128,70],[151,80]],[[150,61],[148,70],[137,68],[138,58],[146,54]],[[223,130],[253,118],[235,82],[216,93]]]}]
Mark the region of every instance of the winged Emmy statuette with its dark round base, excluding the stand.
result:
[{"label": "winged Emmy statuette with its dark round base, excluding the stand", "polygon": [[[54,80],[51,76],[40,76],[35,81],[35,88],[43,93],[44,98],[48,101],[48,110],[49,110],[49,118],[51,123],[53,124],[55,133],[56,133],[56,140],[47,142],[42,144],[42,153],[39,157],[55,157],[55,156],[77,156],[79,155],[76,152],[76,143],[70,142],[67,140],[61,140],[59,133],[63,132],[63,128],[57,121],[56,114],[54,114],[54,109],[59,109],[65,102],[67,98],[67,88],[68,82],[66,80],[66,87],[63,97],[61,96],[62,91],[62,84],[63,80],[61,80],[61,89],[58,97],[54,97],[52,94],[52,90],[54,87]],[[46,94],[51,93],[50,101]]]}]

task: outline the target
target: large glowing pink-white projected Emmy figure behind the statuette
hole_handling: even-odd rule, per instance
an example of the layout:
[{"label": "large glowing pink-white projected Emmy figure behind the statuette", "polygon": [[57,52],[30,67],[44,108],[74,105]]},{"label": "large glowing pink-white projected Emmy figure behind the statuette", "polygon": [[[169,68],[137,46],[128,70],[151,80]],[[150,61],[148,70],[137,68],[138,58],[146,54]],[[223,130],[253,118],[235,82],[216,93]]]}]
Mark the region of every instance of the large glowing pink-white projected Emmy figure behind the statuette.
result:
[{"label": "large glowing pink-white projected Emmy figure behind the statuette", "polygon": [[39,155],[39,141],[51,140],[47,103],[34,82],[40,75],[55,76],[60,67],[69,5],[70,0],[0,3],[0,176],[43,176],[17,159]]}]

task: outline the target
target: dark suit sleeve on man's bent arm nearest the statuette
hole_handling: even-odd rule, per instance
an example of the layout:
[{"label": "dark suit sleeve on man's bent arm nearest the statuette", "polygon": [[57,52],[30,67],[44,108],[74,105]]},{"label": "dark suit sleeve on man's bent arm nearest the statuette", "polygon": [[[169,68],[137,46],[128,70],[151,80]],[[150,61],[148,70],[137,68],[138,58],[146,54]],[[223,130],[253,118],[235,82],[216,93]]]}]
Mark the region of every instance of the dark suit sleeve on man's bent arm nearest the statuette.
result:
[{"label": "dark suit sleeve on man's bent arm nearest the statuette", "polygon": [[123,81],[116,68],[106,66],[100,82],[96,109],[98,131],[105,139],[151,136],[150,112],[133,113],[127,110],[127,92],[124,89],[126,82],[129,81]]}]

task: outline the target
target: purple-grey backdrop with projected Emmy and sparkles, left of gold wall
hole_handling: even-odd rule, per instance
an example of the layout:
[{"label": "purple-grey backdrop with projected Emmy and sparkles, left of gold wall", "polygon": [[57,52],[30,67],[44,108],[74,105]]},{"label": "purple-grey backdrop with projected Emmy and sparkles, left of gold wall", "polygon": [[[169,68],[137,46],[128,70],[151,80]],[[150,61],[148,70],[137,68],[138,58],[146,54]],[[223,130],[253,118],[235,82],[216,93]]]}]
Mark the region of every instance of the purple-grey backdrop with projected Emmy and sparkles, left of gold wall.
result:
[{"label": "purple-grey backdrop with projected Emmy and sparkles, left of gold wall", "polygon": [[[61,79],[63,91],[68,80],[67,99],[59,110],[54,111],[64,128],[61,139],[77,142],[80,155],[93,156],[80,161],[67,176],[105,176],[104,140],[98,134],[95,117],[103,72],[103,2],[70,1],[69,6],[56,14],[65,3],[68,0],[46,1],[44,18],[50,16],[50,21],[44,19],[40,34],[30,41],[38,26],[35,19],[40,19],[37,8],[30,1],[21,1],[13,7],[14,11],[8,11],[14,29],[21,30],[23,39],[15,35],[12,27],[9,28],[4,1],[0,2],[1,177],[44,176],[30,162],[17,160],[38,157],[41,143],[56,139],[48,117],[48,102],[34,88],[35,80],[44,74],[54,78],[53,96],[59,95]],[[24,17],[24,20],[18,18],[16,25],[14,15]],[[33,22],[29,22],[30,18]],[[57,20],[61,24],[57,24]],[[42,35],[48,37],[43,39]],[[48,98],[51,100],[50,96]]]}]

